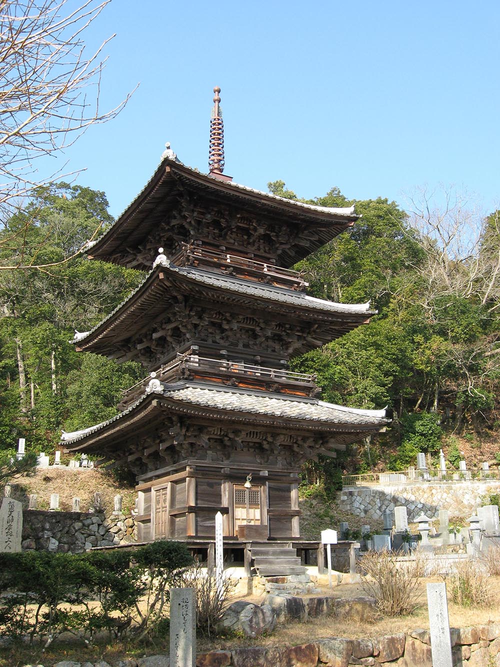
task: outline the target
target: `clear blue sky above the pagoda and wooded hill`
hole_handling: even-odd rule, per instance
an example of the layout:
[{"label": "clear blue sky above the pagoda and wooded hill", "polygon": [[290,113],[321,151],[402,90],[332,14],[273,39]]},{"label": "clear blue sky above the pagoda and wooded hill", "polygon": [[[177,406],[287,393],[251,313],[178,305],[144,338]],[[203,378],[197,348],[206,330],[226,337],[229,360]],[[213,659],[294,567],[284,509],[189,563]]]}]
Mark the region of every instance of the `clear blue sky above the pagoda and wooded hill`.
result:
[{"label": "clear blue sky above the pagoda and wooded hill", "polygon": [[403,202],[415,186],[500,201],[500,3],[461,0],[113,0],[90,45],[112,33],[101,101],[139,88],[119,117],[67,151],[78,182],[113,215],[139,193],[165,141],[207,171],[213,86],[225,173],[301,197]]}]

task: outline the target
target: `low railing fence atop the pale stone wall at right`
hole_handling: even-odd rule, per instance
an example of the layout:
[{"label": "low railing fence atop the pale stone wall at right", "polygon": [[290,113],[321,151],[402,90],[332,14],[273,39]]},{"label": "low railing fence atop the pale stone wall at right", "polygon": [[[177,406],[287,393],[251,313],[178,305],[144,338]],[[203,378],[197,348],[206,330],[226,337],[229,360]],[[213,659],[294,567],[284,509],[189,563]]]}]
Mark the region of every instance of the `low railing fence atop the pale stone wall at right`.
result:
[{"label": "low railing fence atop the pale stone wall at right", "polygon": [[363,475],[343,475],[342,486],[374,486],[375,484],[415,484],[427,482],[465,482],[500,480],[500,469],[471,468],[467,470],[397,470],[395,472],[369,472]]}]

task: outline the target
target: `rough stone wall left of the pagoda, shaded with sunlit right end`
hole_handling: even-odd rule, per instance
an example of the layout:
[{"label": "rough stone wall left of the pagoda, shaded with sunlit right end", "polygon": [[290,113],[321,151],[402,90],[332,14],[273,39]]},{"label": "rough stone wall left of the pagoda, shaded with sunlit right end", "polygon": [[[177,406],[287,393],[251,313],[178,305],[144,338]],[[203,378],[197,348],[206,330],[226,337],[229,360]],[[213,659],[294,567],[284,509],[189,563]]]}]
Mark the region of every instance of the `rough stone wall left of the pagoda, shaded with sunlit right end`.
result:
[{"label": "rough stone wall left of the pagoda, shaded with sunlit right end", "polygon": [[135,522],[124,514],[23,511],[23,550],[79,554],[94,546],[113,546],[135,540]]}]

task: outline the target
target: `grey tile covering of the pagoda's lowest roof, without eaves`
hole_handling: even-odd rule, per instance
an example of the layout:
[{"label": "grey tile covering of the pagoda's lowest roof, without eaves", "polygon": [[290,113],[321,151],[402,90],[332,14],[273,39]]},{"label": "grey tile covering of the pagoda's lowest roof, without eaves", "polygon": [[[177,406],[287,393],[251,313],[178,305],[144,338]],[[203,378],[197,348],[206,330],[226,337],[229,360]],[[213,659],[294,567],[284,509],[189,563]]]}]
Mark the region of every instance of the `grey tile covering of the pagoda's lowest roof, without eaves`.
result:
[{"label": "grey tile covering of the pagoda's lowest roof, without eaves", "polygon": [[372,427],[373,430],[377,430],[377,427],[382,428],[389,421],[385,418],[385,408],[383,410],[359,410],[312,398],[285,398],[278,394],[219,388],[185,381],[166,384],[152,380],[146,393],[124,412],[87,429],[72,433],[63,432],[61,440],[67,444],[83,440],[85,436],[101,430],[132,412],[151,393],[162,396],[167,405],[170,404],[173,408],[176,405],[199,406],[207,410],[269,416],[297,422],[316,422],[325,426],[338,424],[341,430],[349,430],[349,426],[353,430],[363,427]]}]

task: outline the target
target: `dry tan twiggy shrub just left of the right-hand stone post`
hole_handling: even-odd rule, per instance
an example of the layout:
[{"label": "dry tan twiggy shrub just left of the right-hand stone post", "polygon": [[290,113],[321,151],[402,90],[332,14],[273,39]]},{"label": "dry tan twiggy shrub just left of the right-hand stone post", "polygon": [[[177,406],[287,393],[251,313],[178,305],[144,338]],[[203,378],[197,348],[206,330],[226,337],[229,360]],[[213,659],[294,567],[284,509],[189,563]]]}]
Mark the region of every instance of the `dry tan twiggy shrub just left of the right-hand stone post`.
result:
[{"label": "dry tan twiggy shrub just left of the right-hand stone post", "polygon": [[393,554],[368,552],[359,561],[359,570],[370,578],[363,579],[363,589],[377,599],[381,614],[403,616],[418,606],[419,581],[425,575],[425,562],[417,556],[398,564]]}]

